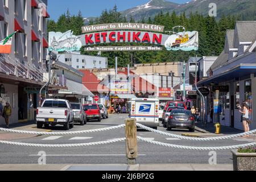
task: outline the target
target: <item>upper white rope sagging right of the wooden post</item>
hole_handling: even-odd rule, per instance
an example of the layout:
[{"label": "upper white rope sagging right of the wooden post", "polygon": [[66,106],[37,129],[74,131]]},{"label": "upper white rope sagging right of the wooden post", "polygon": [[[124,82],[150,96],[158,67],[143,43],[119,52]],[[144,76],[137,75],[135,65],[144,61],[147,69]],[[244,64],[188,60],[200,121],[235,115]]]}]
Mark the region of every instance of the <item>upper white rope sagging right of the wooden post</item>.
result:
[{"label": "upper white rope sagging right of the wooden post", "polygon": [[171,134],[171,133],[166,133],[166,132],[159,131],[159,130],[154,130],[154,129],[151,129],[150,127],[141,125],[139,123],[137,123],[137,126],[140,127],[141,129],[144,129],[144,130],[147,130],[147,131],[151,131],[151,132],[156,133],[156,134],[166,135],[167,137],[184,139],[184,140],[195,140],[195,141],[225,140],[225,139],[232,139],[232,138],[237,138],[237,137],[243,137],[245,135],[250,135],[250,134],[255,134],[256,133],[256,130],[252,130],[252,131],[249,131],[249,132],[246,132],[246,133],[241,133],[241,134],[236,134],[236,135],[228,135],[228,136],[224,136],[224,137],[193,138],[193,137],[184,137],[184,136],[181,136],[181,135],[175,135],[175,134]]}]

